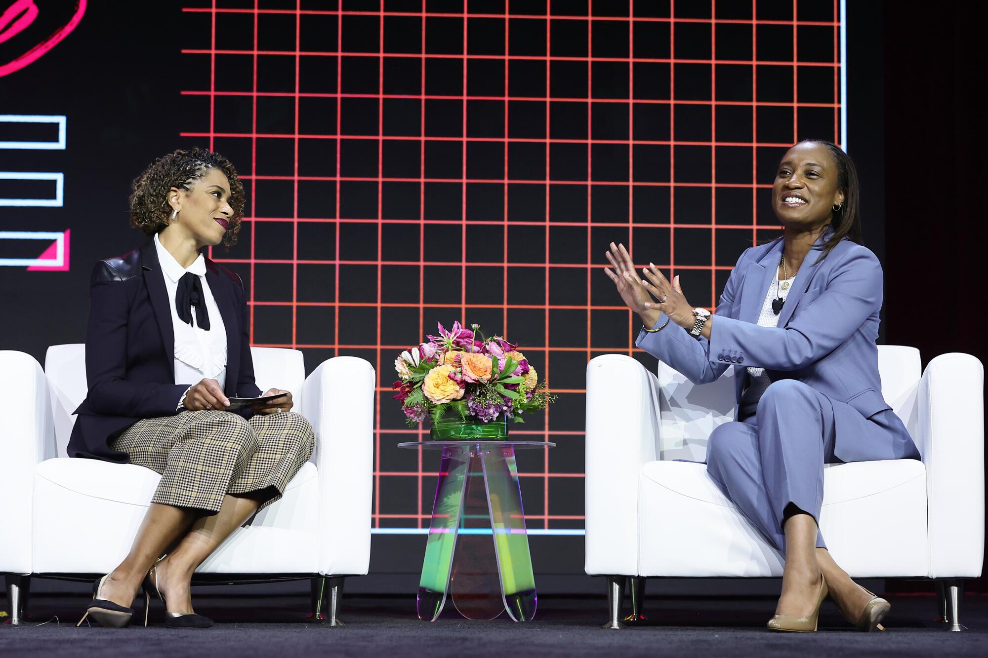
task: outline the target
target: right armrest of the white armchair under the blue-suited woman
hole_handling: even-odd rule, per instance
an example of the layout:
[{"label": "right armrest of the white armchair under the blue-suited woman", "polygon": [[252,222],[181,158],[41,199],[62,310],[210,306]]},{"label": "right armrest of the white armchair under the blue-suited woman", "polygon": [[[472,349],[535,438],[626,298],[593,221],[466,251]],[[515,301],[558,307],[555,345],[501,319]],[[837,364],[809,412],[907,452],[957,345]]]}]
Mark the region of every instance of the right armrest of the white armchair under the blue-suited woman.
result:
[{"label": "right armrest of the white armchair under the blue-suited woman", "polygon": [[913,439],[927,472],[931,578],[976,578],[984,558],[984,368],[966,354],[927,366]]}]

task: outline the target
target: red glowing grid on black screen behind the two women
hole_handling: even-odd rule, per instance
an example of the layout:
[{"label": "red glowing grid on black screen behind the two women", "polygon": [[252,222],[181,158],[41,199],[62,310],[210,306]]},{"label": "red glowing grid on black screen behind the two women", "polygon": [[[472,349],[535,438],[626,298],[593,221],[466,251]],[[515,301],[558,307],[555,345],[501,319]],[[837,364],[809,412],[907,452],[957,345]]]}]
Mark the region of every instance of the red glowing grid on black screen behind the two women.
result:
[{"label": "red glowing grid on black screen behind the two women", "polygon": [[[529,526],[582,526],[584,364],[600,354],[622,352],[652,365],[647,356],[634,350],[633,318],[618,305],[610,283],[599,272],[605,265],[603,252],[612,239],[624,242],[633,253],[638,252],[639,259],[654,260],[670,275],[682,275],[688,297],[712,308],[740,251],[766,237],[760,231],[774,228],[774,217],[765,214],[765,196],[784,148],[807,136],[839,137],[838,3],[834,0],[823,4],[821,11],[819,3],[810,6],[797,0],[752,0],[750,5],[725,0],[671,0],[668,4],[598,0],[585,5],[561,0],[510,5],[469,2],[464,13],[463,3],[455,1],[343,2],[339,6],[335,2],[302,0],[205,0],[205,6],[183,10],[202,28],[191,31],[189,39],[197,42],[190,42],[190,47],[182,50],[189,63],[187,69],[206,70],[208,79],[203,76],[199,85],[190,84],[207,89],[183,92],[189,104],[184,121],[198,124],[199,129],[182,135],[190,142],[207,140],[210,148],[230,157],[248,191],[248,216],[240,244],[228,253],[216,250],[213,257],[229,263],[248,283],[254,345],[301,349],[309,370],[339,354],[365,357],[377,370],[375,528],[386,532],[387,528],[428,526],[435,488],[433,469],[437,464],[429,460],[424,463],[421,452],[394,448],[399,441],[414,440],[422,430],[403,428],[397,403],[390,399],[390,382],[394,378],[391,362],[398,351],[434,333],[437,319],[450,324],[457,318],[466,322],[479,319],[489,332],[522,341],[522,349],[559,393],[559,402],[544,418],[516,426],[512,432],[559,444],[555,452],[531,452],[520,459]],[[806,16],[809,18],[804,19]],[[395,34],[392,28],[398,25],[392,19],[403,20],[401,26],[406,28],[417,26],[417,32],[411,37],[403,35],[396,47],[388,44]],[[376,30],[368,30],[373,23]],[[532,43],[532,26],[541,24],[544,44],[543,52],[538,54],[535,50],[539,44]],[[456,25],[461,42],[453,47],[449,37]],[[434,26],[442,30],[445,41],[431,42],[430,29]],[[498,26],[503,30],[501,51],[475,51],[491,49],[491,40],[483,33],[492,28],[497,35]],[[517,32],[523,26],[526,42],[512,41],[513,28]],[[586,53],[553,54],[583,47],[572,43],[560,46],[558,35],[553,42],[554,32],[563,34],[564,28],[574,26],[585,30]],[[697,35],[703,34],[697,32],[698,26],[700,31],[709,32],[705,53],[705,44],[697,45]],[[624,56],[618,56],[625,46],[623,37],[616,37],[616,28],[626,35]],[[645,47],[641,42],[652,41],[659,34],[656,29],[667,35],[667,56],[639,56],[641,50],[655,49],[654,43]],[[728,31],[730,41],[723,38]],[[231,33],[239,34],[231,38]],[[803,35],[807,44],[801,45]],[[483,46],[471,47],[471,38],[483,41]],[[417,47],[410,46],[412,41],[417,41]],[[313,42],[316,47],[311,47]],[[736,52],[746,47],[748,57],[721,56],[722,50]],[[458,51],[448,51],[451,49]],[[700,56],[691,54],[697,51]],[[763,51],[769,54],[763,55]],[[367,66],[373,59],[376,90],[347,91],[373,82],[373,67]],[[238,63],[231,66],[234,60]],[[414,60],[418,70],[410,71],[407,64]],[[447,60],[446,64],[452,60],[455,65],[436,69],[439,73],[430,68],[439,66],[442,60]],[[502,94],[470,92],[467,73],[470,62],[477,60],[503,63]],[[286,61],[290,65],[286,66]],[[398,63],[399,71],[401,65],[406,65],[405,76],[409,79],[418,78],[418,93],[389,93],[394,91],[389,86],[402,86],[394,83],[393,73],[389,77],[392,62]],[[513,62],[535,62],[536,66],[543,63],[544,93],[512,93],[518,82],[511,76]],[[570,66],[585,64],[586,81],[581,83],[578,77],[574,78],[570,69],[562,84],[554,84],[553,70],[561,66],[559,62],[570,62]],[[626,66],[627,76],[622,93],[617,83],[617,94],[604,84],[610,82],[605,78],[617,70],[615,66]],[[698,80],[697,72],[702,67],[709,72]],[[245,73],[244,68],[249,70]],[[668,71],[668,82],[660,73],[657,86],[668,88],[664,94],[655,93],[652,76],[663,69]],[[810,82],[804,82],[800,89],[804,75]],[[273,76],[281,82],[270,83]],[[446,78],[439,80],[446,87],[455,86],[453,78],[461,76],[459,93],[430,92],[437,76]],[[318,78],[318,84],[308,84],[306,78],[313,77]],[[348,83],[348,77],[363,77],[364,82]],[[730,88],[730,92],[718,90],[718,84],[722,89]],[[603,91],[598,90],[599,86]],[[313,91],[313,87],[319,90]],[[680,91],[687,87],[688,91]],[[766,91],[767,87],[771,88]],[[706,89],[698,93],[698,88]],[[810,89],[812,94],[808,93]],[[229,99],[249,105],[223,106]],[[277,108],[259,108],[259,103],[279,99],[283,104]],[[305,104],[313,100],[330,105],[308,110]],[[397,106],[392,108],[389,104],[396,101],[405,102],[402,108],[406,109],[410,107],[408,102],[417,102],[417,130],[395,130],[385,124],[395,115],[393,108]],[[431,116],[439,114],[443,107],[436,102],[458,103],[457,129],[451,127],[452,122],[442,121],[446,115],[440,116],[443,125],[439,128],[430,125]],[[477,128],[468,122],[468,111],[479,107],[476,102],[493,102],[501,107],[502,116],[497,117],[495,112],[492,121],[485,120],[487,126],[481,129],[481,135],[471,134]],[[376,129],[368,130],[374,103]],[[618,104],[618,112],[626,106],[626,130],[620,121],[617,129],[609,127],[615,123],[615,115],[604,111],[609,106],[613,109],[614,104]],[[544,125],[539,126],[540,135],[538,129],[534,130],[531,116],[524,122],[517,120],[518,124],[525,123],[521,135],[510,121],[516,108],[526,105],[541,109]],[[445,106],[443,112],[448,112],[449,107]],[[580,109],[585,109],[585,135],[560,136],[573,133],[574,127],[561,129],[554,120],[570,117],[574,107],[578,108],[578,118]],[[667,130],[652,121],[661,114],[645,112],[656,107],[668,109]],[[601,116],[595,121],[598,109]],[[718,123],[718,111],[722,123]],[[791,117],[781,119],[780,111],[791,113]],[[306,129],[308,126],[300,123],[300,117],[313,112],[328,122],[323,123],[322,129]],[[363,130],[348,127],[348,122],[361,119],[355,119],[361,112],[368,115]],[[706,121],[706,113],[709,125],[704,134],[705,126],[698,123]],[[239,115],[235,121],[230,119],[233,115]],[[745,115],[747,120],[735,121]],[[749,121],[750,126],[738,127]],[[279,122],[280,127],[265,129],[265,125]],[[494,122],[499,123],[498,129],[491,128]],[[693,135],[684,134],[687,124]],[[804,127],[807,124],[809,128]],[[812,132],[804,133],[806,129]],[[622,130],[626,131],[624,137],[619,134]],[[646,130],[648,135],[636,137]],[[661,132],[667,136],[650,138]],[[313,158],[319,158],[308,151],[317,140],[322,145],[315,150],[321,152],[325,162],[314,166]],[[367,142],[371,142],[370,150]],[[417,175],[388,175],[386,171],[394,162],[401,164],[401,156],[392,157],[389,149],[398,148],[402,142],[413,146],[417,142]],[[431,150],[443,142],[459,145],[458,175],[451,176],[449,163],[443,162],[444,155],[449,159],[448,149],[438,155]],[[280,144],[277,148],[273,146],[276,143]],[[471,144],[475,143],[499,148],[501,155],[493,159],[503,157],[503,163],[497,163],[501,176],[470,175],[468,170],[476,161],[492,159],[490,150],[486,154],[472,150]],[[290,152],[284,144],[290,146]],[[523,160],[531,160],[531,152],[513,150],[519,144],[543,148],[543,174],[513,174]],[[573,176],[572,167],[564,174],[554,170],[566,164],[564,160],[574,153],[564,152],[557,146],[560,144],[569,145],[565,147],[569,149],[585,149],[585,174]],[[304,151],[301,155],[300,147]],[[698,156],[700,151],[706,155]],[[626,171],[616,173],[623,165],[612,166],[615,152],[618,162],[622,153],[626,155]],[[659,163],[658,175],[656,153],[666,154],[668,159],[667,165]],[[595,155],[604,167],[595,168]],[[269,167],[266,160],[278,158],[290,160],[290,171],[283,167],[283,171],[272,173],[278,167]],[[531,169],[531,162],[528,164]],[[411,165],[404,162],[403,166],[407,169]],[[582,167],[579,160],[577,166]],[[331,171],[312,173],[312,169],[320,167]],[[709,169],[708,174],[697,171],[704,168]],[[438,169],[446,172],[436,175],[430,171]],[[322,187],[305,187],[314,184]],[[375,209],[350,211],[355,206],[348,206],[349,197],[356,199],[360,194],[357,191],[363,189],[356,186],[369,184],[373,186]],[[404,191],[408,186],[417,186],[417,216],[414,212],[395,216],[387,209],[391,193],[399,190],[395,185],[404,185]],[[451,186],[459,188],[455,212],[458,216],[449,210],[430,209],[432,200],[449,196]],[[500,188],[502,198],[478,210],[474,191],[490,190],[491,186]],[[532,217],[524,207],[531,204],[533,189],[542,197],[544,208],[536,209],[544,217]],[[614,201],[616,189],[623,189],[618,195],[626,194],[626,202]],[[642,190],[664,192],[644,194]],[[574,194],[585,199],[585,218],[579,212],[572,217],[559,217],[554,211],[558,199],[571,202]],[[595,202],[595,195],[606,203]],[[490,201],[490,197],[486,199]],[[300,207],[300,200],[305,207]],[[313,210],[312,206],[319,209]],[[500,216],[490,216],[491,208]],[[407,231],[398,233],[396,227]],[[445,232],[435,232],[440,229]],[[497,243],[497,248],[478,254],[476,237],[484,232],[489,233],[489,241]],[[396,255],[393,248],[387,247],[389,241],[415,233],[417,239],[406,240],[402,253]],[[533,236],[535,239],[530,240]],[[437,242],[449,248],[441,249],[437,255]],[[540,256],[533,258],[528,253],[513,257],[525,249],[531,252],[530,242],[535,251],[541,252]],[[278,244],[284,247],[281,253],[276,253]],[[489,283],[492,277],[498,280],[496,288],[500,290],[496,302],[491,300],[489,289],[477,284],[481,280]],[[447,296],[437,299],[433,284],[442,281],[448,285],[451,279],[458,290],[447,287]],[[584,283],[586,291],[582,292]],[[400,287],[397,295],[396,286]],[[579,287],[575,292],[574,286]],[[315,288],[318,291],[313,291]],[[518,298],[520,288],[527,290],[521,295],[524,298]],[[562,289],[567,291],[561,294]],[[355,338],[351,325],[361,319],[367,322]]]}]

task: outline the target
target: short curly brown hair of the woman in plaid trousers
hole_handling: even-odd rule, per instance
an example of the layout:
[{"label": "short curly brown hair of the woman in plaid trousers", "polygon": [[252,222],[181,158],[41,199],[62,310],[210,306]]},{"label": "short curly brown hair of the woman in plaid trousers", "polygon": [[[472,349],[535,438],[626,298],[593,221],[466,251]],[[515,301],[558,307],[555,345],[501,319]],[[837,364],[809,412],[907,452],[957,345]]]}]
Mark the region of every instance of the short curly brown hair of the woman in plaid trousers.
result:
[{"label": "short curly brown hair of the woman in plaid trousers", "polygon": [[178,150],[158,158],[134,179],[130,186],[130,225],[148,236],[160,233],[171,219],[168,191],[172,188],[189,191],[190,186],[206,176],[208,169],[220,169],[230,184],[230,207],[233,216],[223,236],[227,247],[236,244],[240,218],[244,216],[244,186],[237,170],[219,153],[205,148]]}]

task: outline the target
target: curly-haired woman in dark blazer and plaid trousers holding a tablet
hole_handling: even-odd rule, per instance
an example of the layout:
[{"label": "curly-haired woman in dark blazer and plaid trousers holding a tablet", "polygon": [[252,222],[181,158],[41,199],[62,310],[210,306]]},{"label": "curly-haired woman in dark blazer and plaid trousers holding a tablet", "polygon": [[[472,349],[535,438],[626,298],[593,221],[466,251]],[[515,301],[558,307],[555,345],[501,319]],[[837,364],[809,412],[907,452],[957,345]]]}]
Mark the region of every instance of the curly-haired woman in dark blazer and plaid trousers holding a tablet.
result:
[{"label": "curly-haired woman in dark blazer and plaid trousers holding a tablet", "polygon": [[[68,454],[161,473],[124,561],[93,586],[83,617],[125,626],[137,591],[165,602],[166,625],[205,628],[193,572],[234,530],[278,500],[309,458],[312,429],[291,393],[258,397],[240,277],[202,253],[236,242],[244,192],[226,158],[175,151],[133,182],[130,223],[151,239],[100,261],[86,331],[89,392]],[[164,555],[164,557],[162,557]],[[79,621],[82,623],[82,620]]]}]

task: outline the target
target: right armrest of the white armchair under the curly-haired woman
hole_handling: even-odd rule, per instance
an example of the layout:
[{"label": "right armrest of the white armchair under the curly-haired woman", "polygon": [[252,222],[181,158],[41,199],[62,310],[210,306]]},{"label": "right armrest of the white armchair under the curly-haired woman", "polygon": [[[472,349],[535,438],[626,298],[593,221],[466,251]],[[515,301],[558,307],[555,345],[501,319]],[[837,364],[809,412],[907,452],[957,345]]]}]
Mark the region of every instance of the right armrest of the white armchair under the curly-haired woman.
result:
[{"label": "right armrest of the white armchair under the curly-haired woman", "polygon": [[315,433],[324,575],[362,575],[370,567],[375,383],[371,364],[356,357],[328,359],[305,378],[302,414]]}]

